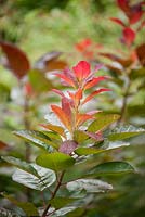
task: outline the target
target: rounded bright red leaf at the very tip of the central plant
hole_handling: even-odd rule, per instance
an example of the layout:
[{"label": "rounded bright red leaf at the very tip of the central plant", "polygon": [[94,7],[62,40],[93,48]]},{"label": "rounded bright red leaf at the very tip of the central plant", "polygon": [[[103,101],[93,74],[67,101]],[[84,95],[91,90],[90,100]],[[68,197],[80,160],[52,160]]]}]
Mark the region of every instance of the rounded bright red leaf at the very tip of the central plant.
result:
[{"label": "rounded bright red leaf at the very tip of the central plant", "polygon": [[79,81],[82,81],[82,79],[87,78],[91,73],[90,64],[85,61],[80,61],[72,69]]}]

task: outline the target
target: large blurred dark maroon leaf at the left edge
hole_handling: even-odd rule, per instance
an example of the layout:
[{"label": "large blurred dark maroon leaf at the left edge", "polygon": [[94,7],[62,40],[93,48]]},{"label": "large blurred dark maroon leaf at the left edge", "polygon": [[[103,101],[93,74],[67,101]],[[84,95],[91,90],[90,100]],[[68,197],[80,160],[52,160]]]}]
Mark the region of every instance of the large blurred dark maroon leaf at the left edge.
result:
[{"label": "large blurred dark maroon leaf at the left edge", "polygon": [[30,69],[30,63],[26,54],[16,46],[8,42],[0,42],[2,51],[8,59],[8,66],[14,75],[21,79]]}]

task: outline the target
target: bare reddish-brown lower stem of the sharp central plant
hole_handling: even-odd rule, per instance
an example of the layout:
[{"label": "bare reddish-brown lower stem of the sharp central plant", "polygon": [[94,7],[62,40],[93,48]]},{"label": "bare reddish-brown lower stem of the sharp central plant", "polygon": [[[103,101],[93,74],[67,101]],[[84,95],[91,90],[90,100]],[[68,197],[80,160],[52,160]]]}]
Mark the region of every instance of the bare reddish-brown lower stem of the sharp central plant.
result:
[{"label": "bare reddish-brown lower stem of the sharp central plant", "polygon": [[[62,184],[62,180],[63,180],[64,174],[65,174],[65,171],[62,171],[62,174],[60,176],[60,179],[57,181],[57,184],[56,184],[56,187],[54,189],[54,192],[52,193],[52,196],[51,196],[50,200],[52,200],[52,199],[55,197],[55,195],[56,195],[56,193],[57,193],[57,191],[58,191],[58,189],[60,189],[60,187]],[[48,210],[49,210],[50,207],[51,207],[51,203],[49,203],[48,206],[45,207],[45,209],[44,209],[44,212],[42,214],[42,217],[49,216],[49,215],[47,215],[47,213],[48,213]]]}]

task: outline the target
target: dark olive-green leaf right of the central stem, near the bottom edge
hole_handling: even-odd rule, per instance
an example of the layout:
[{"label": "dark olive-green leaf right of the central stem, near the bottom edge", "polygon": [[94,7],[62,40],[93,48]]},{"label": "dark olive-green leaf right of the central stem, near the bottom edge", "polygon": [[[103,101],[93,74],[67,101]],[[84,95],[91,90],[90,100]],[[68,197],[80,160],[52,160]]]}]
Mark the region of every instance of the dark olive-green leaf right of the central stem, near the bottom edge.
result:
[{"label": "dark olive-green leaf right of the central stem, near the bottom edge", "polygon": [[50,204],[52,207],[55,207],[56,209],[62,208],[72,202],[75,202],[76,199],[69,199],[69,197],[54,197],[50,201]]}]

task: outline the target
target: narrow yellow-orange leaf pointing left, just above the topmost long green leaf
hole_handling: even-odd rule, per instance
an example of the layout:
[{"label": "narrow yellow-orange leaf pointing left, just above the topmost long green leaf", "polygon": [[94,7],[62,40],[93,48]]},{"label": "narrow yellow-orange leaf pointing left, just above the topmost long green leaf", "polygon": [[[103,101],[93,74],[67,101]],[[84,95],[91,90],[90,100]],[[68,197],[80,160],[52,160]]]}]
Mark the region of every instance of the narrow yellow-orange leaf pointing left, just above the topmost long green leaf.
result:
[{"label": "narrow yellow-orange leaf pointing left, just above the topmost long green leaf", "polygon": [[58,135],[61,135],[62,137],[66,138],[66,135],[65,135],[65,130],[63,127],[61,126],[57,126],[57,125],[51,125],[51,124],[41,124],[40,126],[42,126],[43,128],[45,129],[49,129],[49,130],[52,130],[54,132],[57,132]]}]

